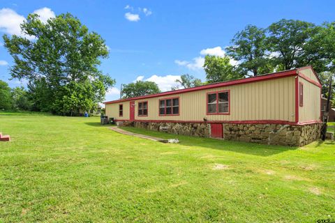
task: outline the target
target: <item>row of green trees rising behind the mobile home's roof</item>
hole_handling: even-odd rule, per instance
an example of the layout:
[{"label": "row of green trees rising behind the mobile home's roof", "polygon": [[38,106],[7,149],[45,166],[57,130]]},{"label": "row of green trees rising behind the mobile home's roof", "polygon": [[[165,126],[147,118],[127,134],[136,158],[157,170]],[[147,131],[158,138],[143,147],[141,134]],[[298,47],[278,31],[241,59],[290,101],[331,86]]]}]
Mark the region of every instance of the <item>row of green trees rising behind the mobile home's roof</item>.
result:
[{"label": "row of green trees rising behind the mobile home's roof", "polygon": [[[335,22],[318,26],[300,20],[280,20],[267,28],[248,25],[234,35],[225,51],[225,56],[205,56],[205,82],[189,74],[181,75],[176,82],[190,88],[310,65],[318,72],[322,93],[327,96],[328,80],[335,72]],[[172,88],[175,89],[178,87]],[[158,92],[154,86],[146,93]],[[334,88],[332,94],[335,96]],[[125,91],[124,97],[129,96]]]}]

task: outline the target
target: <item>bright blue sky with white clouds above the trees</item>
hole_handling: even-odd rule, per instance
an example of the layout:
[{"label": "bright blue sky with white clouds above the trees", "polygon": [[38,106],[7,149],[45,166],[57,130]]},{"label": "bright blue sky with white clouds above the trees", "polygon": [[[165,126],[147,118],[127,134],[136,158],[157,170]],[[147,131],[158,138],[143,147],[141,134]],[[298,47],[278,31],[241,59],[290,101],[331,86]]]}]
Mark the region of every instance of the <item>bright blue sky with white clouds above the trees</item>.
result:
[{"label": "bright blue sky with white clouds above the trees", "polygon": [[[223,55],[234,33],[247,24],[267,27],[285,19],[321,24],[335,20],[335,1],[18,1],[0,0],[0,34],[17,32],[29,13],[46,19],[72,13],[110,48],[101,70],[117,80],[107,100],[119,98],[120,84],[157,82],[167,91],[179,75],[204,80],[204,54]],[[20,22],[19,22],[20,24]],[[0,79],[9,81],[13,63],[0,40]],[[234,61],[232,61],[234,63]]]}]

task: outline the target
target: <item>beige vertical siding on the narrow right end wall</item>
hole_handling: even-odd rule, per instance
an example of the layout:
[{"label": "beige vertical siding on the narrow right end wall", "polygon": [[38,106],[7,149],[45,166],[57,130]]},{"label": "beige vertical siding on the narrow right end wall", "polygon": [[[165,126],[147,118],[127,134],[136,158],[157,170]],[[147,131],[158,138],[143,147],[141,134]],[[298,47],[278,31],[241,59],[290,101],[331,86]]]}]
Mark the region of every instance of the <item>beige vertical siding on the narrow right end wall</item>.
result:
[{"label": "beige vertical siding on the narrow right end wall", "polygon": [[[315,77],[315,75],[313,75]],[[316,78],[316,77],[315,77]],[[320,120],[320,88],[299,77],[304,84],[304,105],[299,106],[299,122]]]}]

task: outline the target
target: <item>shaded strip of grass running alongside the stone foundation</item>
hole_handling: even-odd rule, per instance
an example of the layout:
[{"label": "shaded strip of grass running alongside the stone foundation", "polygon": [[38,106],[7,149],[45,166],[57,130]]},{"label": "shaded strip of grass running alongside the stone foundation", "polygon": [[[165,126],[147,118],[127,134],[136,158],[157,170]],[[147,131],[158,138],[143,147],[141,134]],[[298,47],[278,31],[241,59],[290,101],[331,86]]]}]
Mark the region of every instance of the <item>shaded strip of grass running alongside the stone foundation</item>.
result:
[{"label": "shaded strip of grass running alongside the stone foundation", "polygon": [[298,147],[288,146],[274,146],[256,143],[246,143],[241,141],[228,141],[221,139],[209,139],[202,137],[191,137],[180,134],[169,134],[165,132],[156,132],[154,130],[144,130],[141,128],[123,127],[122,129],[129,132],[140,134],[147,134],[153,137],[160,137],[163,139],[179,139],[179,144],[184,146],[197,146],[203,148],[211,148],[221,151],[231,151],[234,153],[244,153],[248,155],[270,156],[285,151],[293,151]]}]

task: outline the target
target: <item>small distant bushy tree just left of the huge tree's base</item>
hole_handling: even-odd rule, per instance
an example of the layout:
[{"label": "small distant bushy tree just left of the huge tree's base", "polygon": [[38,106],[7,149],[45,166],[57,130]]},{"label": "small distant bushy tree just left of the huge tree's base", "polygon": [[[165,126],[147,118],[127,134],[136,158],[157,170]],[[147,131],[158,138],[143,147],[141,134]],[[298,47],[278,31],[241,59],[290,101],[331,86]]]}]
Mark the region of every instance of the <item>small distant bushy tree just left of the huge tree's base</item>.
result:
[{"label": "small distant bushy tree just left of the huge tree's base", "polygon": [[16,87],[12,89],[13,109],[29,111],[31,110],[31,101],[29,94],[23,87]]}]

